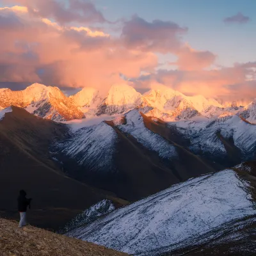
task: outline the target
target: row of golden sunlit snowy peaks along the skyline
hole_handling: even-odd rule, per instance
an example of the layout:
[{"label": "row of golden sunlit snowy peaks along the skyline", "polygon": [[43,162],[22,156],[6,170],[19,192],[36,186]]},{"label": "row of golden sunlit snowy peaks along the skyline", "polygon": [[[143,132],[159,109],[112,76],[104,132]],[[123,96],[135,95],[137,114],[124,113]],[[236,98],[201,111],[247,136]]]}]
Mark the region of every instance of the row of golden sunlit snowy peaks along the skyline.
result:
[{"label": "row of golden sunlit snowy peaks along the skyline", "polygon": [[84,117],[124,114],[140,109],[147,116],[168,122],[190,120],[196,117],[216,118],[223,114],[240,115],[255,123],[255,102],[240,106],[239,102],[206,99],[202,95],[186,96],[162,86],[141,95],[129,84],[113,84],[105,94],[95,88],[83,88],[67,97],[57,87],[32,84],[22,91],[0,89],[0,108],[25,108],[36,116],[56,122]]}]

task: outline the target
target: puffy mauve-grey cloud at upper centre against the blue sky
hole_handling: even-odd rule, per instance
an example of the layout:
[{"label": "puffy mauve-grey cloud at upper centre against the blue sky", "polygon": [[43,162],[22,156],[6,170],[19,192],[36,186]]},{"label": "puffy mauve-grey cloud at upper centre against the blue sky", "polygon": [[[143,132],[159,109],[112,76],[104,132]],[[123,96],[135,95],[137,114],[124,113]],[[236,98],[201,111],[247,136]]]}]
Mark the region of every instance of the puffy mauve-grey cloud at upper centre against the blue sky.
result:
[{"label": "puffy mauve-grey cloud at upper centre against the blue sky", "polygon": [[180,36],[188,31],[170,21],[147,22],[138,16],[125,22],[122,39],[126,47],[137,51],[172,52],[179,49]]}]

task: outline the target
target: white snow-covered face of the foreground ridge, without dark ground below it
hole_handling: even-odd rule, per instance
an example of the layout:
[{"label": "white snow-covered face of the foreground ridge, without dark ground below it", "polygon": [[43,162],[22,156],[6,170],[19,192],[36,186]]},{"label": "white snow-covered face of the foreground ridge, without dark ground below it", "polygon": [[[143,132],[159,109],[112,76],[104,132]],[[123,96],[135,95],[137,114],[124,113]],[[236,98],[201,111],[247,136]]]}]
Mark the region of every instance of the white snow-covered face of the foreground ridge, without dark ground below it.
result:
[{"label": "white snow-covered face of the foreground ridge, without dark ground below it", "polygon": [[249,188],[233,170],[211,173],[117,209],[72,236],[133,255],[156,255],[256,214]]}]

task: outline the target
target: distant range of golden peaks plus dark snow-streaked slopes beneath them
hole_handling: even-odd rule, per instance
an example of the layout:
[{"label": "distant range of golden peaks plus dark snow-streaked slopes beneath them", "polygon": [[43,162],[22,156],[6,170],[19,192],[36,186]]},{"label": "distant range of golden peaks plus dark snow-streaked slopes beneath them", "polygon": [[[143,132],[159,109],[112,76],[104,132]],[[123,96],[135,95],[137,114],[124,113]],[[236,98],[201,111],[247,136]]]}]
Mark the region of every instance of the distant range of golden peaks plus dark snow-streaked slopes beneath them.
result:
[{"label": "distant range of golden peaks plus dark snow-streaked slopes beneath them", "polygon": [[[20,120],[9,138],[26,133],[33,141],[41,124],[61,127],[60,136],[47,138],[44,154],[36,145],[29,150],[46,154],[66,176],[127,201],[256,156],[253,102],[224,108],[220,100],[169,88],[141,95],[128,84],[114,84],[103,97],[94,88],[67,97],[56,87],[32,84],[23,91],[1,89],[0,106],[0,124],[8,116]],[[26,129],[28,116],[32,130]]]}]

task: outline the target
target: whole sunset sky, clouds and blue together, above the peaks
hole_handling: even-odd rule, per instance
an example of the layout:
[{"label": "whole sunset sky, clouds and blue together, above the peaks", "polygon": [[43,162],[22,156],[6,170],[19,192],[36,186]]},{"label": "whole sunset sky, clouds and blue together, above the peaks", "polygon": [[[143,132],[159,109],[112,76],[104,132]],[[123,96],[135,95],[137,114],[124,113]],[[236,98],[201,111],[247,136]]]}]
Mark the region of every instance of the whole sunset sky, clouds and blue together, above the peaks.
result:
[{"label": "whole sunset sky, clouds and blue together, above the peaks", "polygon": [[0,0],[0,88],[256,97],[255,0]]}]

